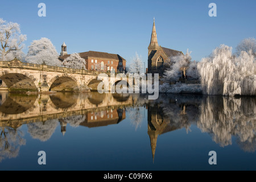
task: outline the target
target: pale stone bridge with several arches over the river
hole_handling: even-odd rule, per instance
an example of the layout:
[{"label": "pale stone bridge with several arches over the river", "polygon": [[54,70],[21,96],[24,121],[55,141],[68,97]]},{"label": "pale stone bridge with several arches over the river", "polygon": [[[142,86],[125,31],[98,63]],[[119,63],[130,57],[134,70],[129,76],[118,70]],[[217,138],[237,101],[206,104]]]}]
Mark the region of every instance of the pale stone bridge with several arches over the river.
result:
[{"label": "pale stone bridge with several arches over the river", "polygon": [[[90,90],[94,91],[97,90],[97,86],[101,82],[98,80],[100,73],[84,69],[22,63],[17,59],[0,61],[2,88],[6,87],[14,92],[49,92],[50,90],[72,92],[74,88],[80,86],[85,86],[85,88],[88,86]],[[102,78],[102,80],[104,79]],[[111,86],[116,85],[121,80],[126,81],[126,84],[129,85],[129,78],[115,77],[114,84],[109,81],[109,88],[107,89],[110,90]]]}]

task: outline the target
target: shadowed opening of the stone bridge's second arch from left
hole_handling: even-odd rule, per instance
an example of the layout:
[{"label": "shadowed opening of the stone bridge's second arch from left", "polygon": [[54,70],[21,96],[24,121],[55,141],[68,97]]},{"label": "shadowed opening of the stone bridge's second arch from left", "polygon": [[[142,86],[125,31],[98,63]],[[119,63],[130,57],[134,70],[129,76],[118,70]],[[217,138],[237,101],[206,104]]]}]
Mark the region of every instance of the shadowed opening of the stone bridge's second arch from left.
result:
[{"label": "shadowed opening of the stone bridge's second arch from left", "polygon": [[49,90],[53,91],[73,91],[77,86],[77,80],[72,76],[56,76],[49,82]]}]

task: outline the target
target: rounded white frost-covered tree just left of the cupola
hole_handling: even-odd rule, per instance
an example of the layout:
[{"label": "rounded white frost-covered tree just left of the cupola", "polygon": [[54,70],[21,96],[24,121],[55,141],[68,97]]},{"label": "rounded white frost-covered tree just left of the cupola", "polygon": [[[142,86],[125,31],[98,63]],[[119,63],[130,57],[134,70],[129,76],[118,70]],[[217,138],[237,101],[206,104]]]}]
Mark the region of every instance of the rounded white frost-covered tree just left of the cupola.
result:
[{"label": "rounded white frost-covered tree just left of the cupola", "polygon": [[61,67],[62,64],[58,57],[59,54],[57,53],[51,40],[42,38],[40,40],[34,40],[30,47],[28,47],[26,61],[27,63],[46,64]]}]

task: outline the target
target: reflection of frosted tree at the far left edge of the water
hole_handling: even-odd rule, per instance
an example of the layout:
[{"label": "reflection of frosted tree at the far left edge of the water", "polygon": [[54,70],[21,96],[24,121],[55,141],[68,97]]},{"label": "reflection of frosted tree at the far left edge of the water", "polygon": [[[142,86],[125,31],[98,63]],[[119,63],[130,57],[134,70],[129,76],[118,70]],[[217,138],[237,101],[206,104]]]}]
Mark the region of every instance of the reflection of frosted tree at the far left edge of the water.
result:
[{"label": "reflection of frosted tree at the far left edge of the water", "polygon": [[0,162],[5,158],[16,158],[19,154],[19,146],[26,144],[24,134],[11,127],[0,128]]}]

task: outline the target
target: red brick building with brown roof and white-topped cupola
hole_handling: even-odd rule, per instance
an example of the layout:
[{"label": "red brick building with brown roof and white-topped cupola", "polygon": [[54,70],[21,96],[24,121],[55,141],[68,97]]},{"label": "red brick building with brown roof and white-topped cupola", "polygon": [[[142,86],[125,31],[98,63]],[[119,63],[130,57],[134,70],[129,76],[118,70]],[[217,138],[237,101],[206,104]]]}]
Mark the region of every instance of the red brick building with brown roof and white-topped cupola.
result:
[{"label": "red brick building with brown roof and white-topped cupola", "polygon": [[[126,60],[118,54],[107,52],[88,51],[81,52],[79,55],[86,61],[86,69],[89,71],[108,72],[114,69],[115,73],[126,71]],[[61,46],[59,59],[64,61],[69,57],[65,43]]]}]

